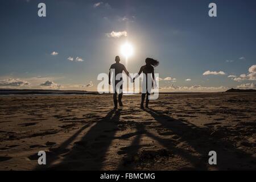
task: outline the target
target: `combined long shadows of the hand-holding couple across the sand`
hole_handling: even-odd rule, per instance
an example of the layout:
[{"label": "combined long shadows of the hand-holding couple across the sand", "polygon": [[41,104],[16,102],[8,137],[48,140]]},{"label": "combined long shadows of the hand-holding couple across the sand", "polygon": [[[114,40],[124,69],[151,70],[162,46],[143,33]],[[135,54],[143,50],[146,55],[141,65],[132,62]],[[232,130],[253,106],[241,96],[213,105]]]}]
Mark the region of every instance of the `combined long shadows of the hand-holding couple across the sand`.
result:
[{"label": "combined long shadows of the hand-holding couple across the sand", "polygon": [[[143,163],[143,159],[138,158],[139,150],[143,145],[139,144],[142,135],[154,139],[160,145],[164,146],[167,150],[160,151],[164,156],[171,154],[173,157],[180,156],[187,162],[191,163],[192,167],[180,167],[178,169],[195,169],[207,170],[208,152],[217,152],[217,166],[220,170],[226,169],[255,169],[255,159],[246,154],[246,152],[235,147],[235,142],[225,140],[222,137],[223,133],[212,135],[212,130],[208,128],[201,128],[193,125],[192,123],[183,121],[182,119],[174,119],[168,115],[163,114],[163,111],[156,111],[153,109],[144,110],[150,114],[155,121],[160,123],[158,129],[168,130],[170,135],[175,136],[175,139],[161,138],[152,134],[147,130],[143,122],[136,122],[135,127],[137,131],[134,133],[124,134],[121,137],[115,137],[118,131],[118,124],[121,110],[110,111],[100,121],[93,123],[92,126],[85,125],[77,131],[72,137],[63,142],[58,148],[51,150],[47,158],[47,166],[35,168],[38,169],[53,169],[53,170],[100,170],[108,160],[108,151],[111,150],[110,146],[113,139],[127,139],[133,138],[130,146],[125,148],[125,155],[119,162],[117,169],[127,170],[136,169],[137,165]],[[84,130],[90,127],[89,131],[85,133],[78,142],[73,144],[71,150],[68,150],[71,144]],[[179,144],[185,144],[188,147],[180,147]],[[170,164],[172,165],[172,164]]]}]

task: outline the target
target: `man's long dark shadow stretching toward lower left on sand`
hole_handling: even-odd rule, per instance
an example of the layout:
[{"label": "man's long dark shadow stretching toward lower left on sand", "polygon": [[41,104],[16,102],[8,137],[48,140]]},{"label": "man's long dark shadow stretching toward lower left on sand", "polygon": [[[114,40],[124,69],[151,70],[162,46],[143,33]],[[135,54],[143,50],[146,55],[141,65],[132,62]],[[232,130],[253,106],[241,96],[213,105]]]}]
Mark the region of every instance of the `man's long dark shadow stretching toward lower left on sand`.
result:
[{"label": "man's long dark shadow stretching toward lower left on sand", "polygon": [[69,151],[67,146],[81,134],[88,125],[83,126],[71,138],[58,148],[53,148],[44,165],[35,170],[100,170],[104,165],[106,153],[116,133],[121,109],[110,111],[104,118],[93,124],[89,131],[73,144]]}]

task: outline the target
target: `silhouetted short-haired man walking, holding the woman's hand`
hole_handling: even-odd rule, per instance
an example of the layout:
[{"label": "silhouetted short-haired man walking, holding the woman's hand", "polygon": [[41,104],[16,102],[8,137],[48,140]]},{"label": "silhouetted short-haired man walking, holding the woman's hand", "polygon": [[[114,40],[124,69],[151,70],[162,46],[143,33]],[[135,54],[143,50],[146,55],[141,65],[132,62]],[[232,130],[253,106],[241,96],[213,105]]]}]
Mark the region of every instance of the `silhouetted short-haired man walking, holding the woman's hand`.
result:
[{"label": "silhouetted short-haired man walking, holding the woman's hand", "polygon": [[[120,62],[120,57],[119,56],[115,56],[115,63],[112,64],[110,69],[109,69],[109,85],[111,85],[111,81],[110,81],[111,73],[112,73],[112,71],[114,71],[114,74],[113,74],[114,110],[117,109],[117,90],[119,90],[119,95],[118,95],[119,106],[121,106],[121,107],[123,106],[123,104],[122,104],[122,97],[123,97],[123,78],[122,78],[122,72],[124,71],[126,73],[126,75],[129,76],[129,72],[125,68],[125,65],[123,65],[123,64],[121,64],[119,62]],[[116,76],[118,74],[120,74],[119,75],[120,77],[118,77],[116,79]],[[131,77],[130,77],[130,79],[132,80]]]}]

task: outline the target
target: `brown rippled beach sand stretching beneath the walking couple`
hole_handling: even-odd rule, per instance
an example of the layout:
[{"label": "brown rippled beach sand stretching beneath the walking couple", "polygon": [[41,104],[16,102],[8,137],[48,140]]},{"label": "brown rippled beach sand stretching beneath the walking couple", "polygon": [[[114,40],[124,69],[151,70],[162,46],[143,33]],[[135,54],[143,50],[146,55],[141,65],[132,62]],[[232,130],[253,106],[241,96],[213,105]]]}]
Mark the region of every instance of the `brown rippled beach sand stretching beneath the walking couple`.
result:
[{"label": "brown rippled beach sand stretching beneath the walking couple", "polygon": [[256,169],[255,93],[160,94],[146,110],[139,102],[124,96],[112,111],[111,95],[0,96],[0,169]]}]

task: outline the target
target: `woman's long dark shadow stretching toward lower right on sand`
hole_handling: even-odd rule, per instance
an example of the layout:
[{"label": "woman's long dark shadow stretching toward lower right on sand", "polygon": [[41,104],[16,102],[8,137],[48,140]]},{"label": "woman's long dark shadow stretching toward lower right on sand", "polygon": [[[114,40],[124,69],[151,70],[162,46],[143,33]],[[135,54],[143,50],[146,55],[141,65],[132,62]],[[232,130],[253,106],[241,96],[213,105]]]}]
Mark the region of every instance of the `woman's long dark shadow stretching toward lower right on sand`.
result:
[{"label": "woman's long dark shadow stretching toward lower right on sand", "polygon": [[[179,142],[186,142],[189,146],[195,150],[199,156],[195,158],[195,155],[185,154],[184,151],[180,151],[183,156],[191,161],[195,169],[208,169],[209,151],[217,152],[217,165],[216,168],[220,170],[227,169],[253,169],[255,168],[255,159],[250,154],[234,147],[236,144],[234,141],[224,139],[224,133],[219,135],[211,135],[212,130],[209,128],[197,127],[192,123],[186,122],[182,119],[174,119],[168,115],[162,114],[160,111],[154,109],[145,110],[156,121],[158,121],[162,127],[170,130],[172,134],[179,138]],[[152,136],[154,138],[154,136]],[[166,148],[170,148],[167,140],[159,140]],[[173,147],[172,147],[173,148]],[[179,150],[173,148],[177,154]]]}]

